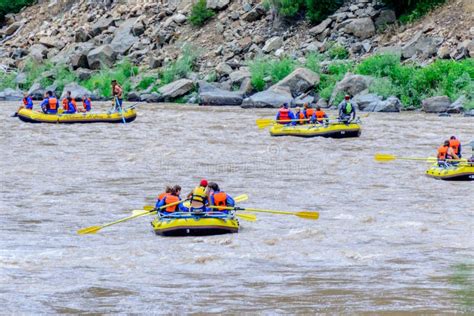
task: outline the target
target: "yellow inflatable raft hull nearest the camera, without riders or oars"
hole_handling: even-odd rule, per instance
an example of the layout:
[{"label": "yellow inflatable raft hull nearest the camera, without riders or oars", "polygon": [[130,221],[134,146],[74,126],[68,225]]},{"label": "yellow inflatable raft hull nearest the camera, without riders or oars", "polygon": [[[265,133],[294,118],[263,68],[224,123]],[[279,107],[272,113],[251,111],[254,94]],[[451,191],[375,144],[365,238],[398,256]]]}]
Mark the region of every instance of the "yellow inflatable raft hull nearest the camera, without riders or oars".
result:
[{"label": "yellow inflatable raft hull nearest the camera, without riders or oars", "polygon": [[160,215],[151,225],[155,233],[162,236],[207,236],[239,231],[239,221],[235,216],[220,212]]}]

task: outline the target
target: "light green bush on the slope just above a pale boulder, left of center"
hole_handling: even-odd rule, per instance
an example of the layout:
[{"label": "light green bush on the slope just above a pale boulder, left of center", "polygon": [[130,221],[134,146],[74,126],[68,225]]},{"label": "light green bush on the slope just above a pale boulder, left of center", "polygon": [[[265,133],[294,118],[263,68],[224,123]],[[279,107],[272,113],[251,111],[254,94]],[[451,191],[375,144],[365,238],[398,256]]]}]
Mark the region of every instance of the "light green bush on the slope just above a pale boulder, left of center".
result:
[{"label": "light green bush on the slope just above a pale boulder, left of center", "polygon": [[175,80],[185,78],[193,71],[199,52],[190,45],[185,45],[182,49],[181,56],[167,64],[161,74],[162,84],[168,84]]}]

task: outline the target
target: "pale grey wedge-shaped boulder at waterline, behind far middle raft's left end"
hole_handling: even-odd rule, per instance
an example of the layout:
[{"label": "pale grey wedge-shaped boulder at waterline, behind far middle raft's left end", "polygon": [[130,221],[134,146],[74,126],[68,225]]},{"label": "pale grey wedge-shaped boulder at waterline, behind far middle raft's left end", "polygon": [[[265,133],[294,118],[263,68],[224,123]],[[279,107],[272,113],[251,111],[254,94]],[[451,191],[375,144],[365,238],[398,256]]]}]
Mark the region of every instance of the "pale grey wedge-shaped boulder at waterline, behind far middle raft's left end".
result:
[{"label": "pale grey wedge-shaped boulder at waterline, behind far middle raft's left end", "polygon": [[283,103],[292,104],[293,96],[288,87],[275,87],[258,92],[242,102],[243,108],[278,108]]}]

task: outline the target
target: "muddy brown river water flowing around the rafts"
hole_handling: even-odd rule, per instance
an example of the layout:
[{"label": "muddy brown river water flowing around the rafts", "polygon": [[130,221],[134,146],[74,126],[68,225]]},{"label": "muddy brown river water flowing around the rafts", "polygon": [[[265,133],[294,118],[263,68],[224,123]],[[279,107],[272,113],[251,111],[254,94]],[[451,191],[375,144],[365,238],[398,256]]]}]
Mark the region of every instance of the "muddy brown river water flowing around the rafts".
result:
[{"label": "muddy brown river water flowing around the rafts", "polygon": [[[474,182],[424,176],[472,118],[371,114],[353,139],[272,138],[275,110],[138,105],[127,125],[27,124],[0,103],[0,314],[473,312]],[[105,107],[105,104],[104,104]],[[468,151],[466,146],[465,151]],[[238,234],[165,238],[131,215],[203,177],[257,214]]]}]

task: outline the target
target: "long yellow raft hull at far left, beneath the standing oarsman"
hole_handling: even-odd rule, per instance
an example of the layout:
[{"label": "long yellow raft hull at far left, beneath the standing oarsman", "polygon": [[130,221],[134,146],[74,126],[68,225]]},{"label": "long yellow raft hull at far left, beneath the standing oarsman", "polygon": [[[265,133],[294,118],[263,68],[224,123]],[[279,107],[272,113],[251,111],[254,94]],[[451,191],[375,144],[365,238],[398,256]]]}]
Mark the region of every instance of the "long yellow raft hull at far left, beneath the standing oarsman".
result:
[{"label": "long yellow raft hull at far left, beneath the standing oarsman", "polygon": [[52,123],[52,124],[73,124],[73,123],[129,123],[137,118],[134,108],[129,108],[121,113],[74,113],[74,114],[44,114],[33,110],[21,109],[18,118],[28,123]]}]

